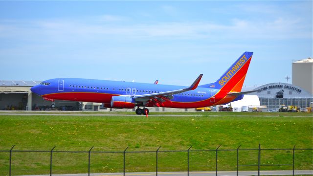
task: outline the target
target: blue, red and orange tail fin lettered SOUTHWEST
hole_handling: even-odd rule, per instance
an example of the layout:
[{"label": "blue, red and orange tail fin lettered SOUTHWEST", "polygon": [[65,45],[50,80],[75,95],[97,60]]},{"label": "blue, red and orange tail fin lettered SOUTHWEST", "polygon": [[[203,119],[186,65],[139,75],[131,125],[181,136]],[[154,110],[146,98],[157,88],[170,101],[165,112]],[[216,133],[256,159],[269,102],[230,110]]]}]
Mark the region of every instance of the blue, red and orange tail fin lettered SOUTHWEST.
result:
[{"label": "blue, red and orange tail fin lettered SOUTHWEST", "polygon": [[248,71],[252,54],[253,52],[244,52],[216,82],[199,87],[240,92],[246,78],[246,72]]}]

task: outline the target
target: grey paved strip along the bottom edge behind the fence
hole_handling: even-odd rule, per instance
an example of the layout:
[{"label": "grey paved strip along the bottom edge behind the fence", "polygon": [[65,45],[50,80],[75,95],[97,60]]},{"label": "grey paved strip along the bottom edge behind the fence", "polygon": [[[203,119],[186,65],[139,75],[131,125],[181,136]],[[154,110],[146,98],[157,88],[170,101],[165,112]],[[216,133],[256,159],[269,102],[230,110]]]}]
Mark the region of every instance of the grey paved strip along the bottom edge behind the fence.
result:
[{"label": "grey paved strip along the bottom edge behind the fence", "polygon": [[[160,172],[159,176],[187,176],[187,172]],[[257,176],[258,171],[239,171],[238,176]],[[292,171],[261,171],[260,175],[292,175]],[[294,171],[294,175],[313,175],[313,171]],[[50,176],[50,175],[36,175]],[[52,176],[88,176],[88,174],[64,174]],[[123,176],[123,173],[90,174],[90,176]],[[125,176],[156,176],[156,173],[125,173]],[[216,176],[215,171],[189,172],[189,176]],[[219,171],[218,176],[237,176],[236,171]]]}]

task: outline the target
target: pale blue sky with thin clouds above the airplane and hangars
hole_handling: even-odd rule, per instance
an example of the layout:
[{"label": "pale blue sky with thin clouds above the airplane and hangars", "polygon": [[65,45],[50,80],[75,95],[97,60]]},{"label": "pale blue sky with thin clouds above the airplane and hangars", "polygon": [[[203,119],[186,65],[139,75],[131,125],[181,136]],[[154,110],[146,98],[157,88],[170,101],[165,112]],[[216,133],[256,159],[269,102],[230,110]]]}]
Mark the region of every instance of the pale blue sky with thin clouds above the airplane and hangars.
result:
[{"label": "pale blue sky with thin clouds above the airplane and hangars", "polygon": [[[190,85],[254,52],[245,86],[313,55],[312,1],[0,1],[0,80]],[[291,83],[291,81],[290,81]]]}]

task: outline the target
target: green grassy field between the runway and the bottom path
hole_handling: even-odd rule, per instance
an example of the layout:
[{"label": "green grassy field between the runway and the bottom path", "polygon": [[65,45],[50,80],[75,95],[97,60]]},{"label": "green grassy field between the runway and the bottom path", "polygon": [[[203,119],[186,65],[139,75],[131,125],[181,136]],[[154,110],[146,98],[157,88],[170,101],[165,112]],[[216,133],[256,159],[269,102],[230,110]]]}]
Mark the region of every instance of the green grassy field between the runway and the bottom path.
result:
[{"label": "green grassy field between the runway and the bottom path", "polygon": [[[52,112],[55,113],[55,112]],[[0,115],[0,150],[156,151],[164,150],[313,148],[313,117],[307,113],[174,112],[190,115],[92,116]],[[199,115],[199,116],[192,116]],[[296,117],[295,117],[296,116]],[[186,171],[187,153],[160,152],[159,171]],[[258,151],[240,151],[240,164],[257,164]],[[13,175],[49,174],[50,153],[13,152]],[[297,150],[295,169],[312,170],[313,152]],[[127,153],[127,172],[154,172],[156,153]],[[219,170],[236,170],[236,152],[219,152]],[[292,164],[292,151],[262,151],[262,164]],[[0,175],[8,175],[9,153],[0,153]],[[256,167],[240,168],[256,170]],[[264,166],[290,170],[291,166]],[[122,153],[91,153],[91,173],[123,171]],[[215,152],[190,152],[191,171],[214,171]],[[88,172],[88,153],[53,153],[53,174]]]}]

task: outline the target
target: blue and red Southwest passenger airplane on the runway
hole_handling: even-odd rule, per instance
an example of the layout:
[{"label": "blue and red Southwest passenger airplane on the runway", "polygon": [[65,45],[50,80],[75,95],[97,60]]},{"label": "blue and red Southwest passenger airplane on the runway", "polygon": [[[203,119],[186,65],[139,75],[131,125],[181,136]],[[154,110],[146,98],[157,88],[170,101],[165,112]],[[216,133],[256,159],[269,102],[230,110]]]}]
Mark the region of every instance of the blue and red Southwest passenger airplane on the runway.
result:
[{"label": "blue and red Southwest passenger airplane on the runway", "polygon": [[[80,78],[55,78],[31,88],[45,100],[69,100],[103,103],[106,108],[134,109],[149,114],[147,107],[201,108],[240,100],[253,52],[244,52],[214,83],[199,85],[203,74],[189,86],[172,86],[124,81]],[[143,107],[141,109],[140,107]]]}]

